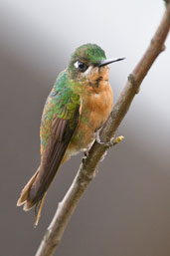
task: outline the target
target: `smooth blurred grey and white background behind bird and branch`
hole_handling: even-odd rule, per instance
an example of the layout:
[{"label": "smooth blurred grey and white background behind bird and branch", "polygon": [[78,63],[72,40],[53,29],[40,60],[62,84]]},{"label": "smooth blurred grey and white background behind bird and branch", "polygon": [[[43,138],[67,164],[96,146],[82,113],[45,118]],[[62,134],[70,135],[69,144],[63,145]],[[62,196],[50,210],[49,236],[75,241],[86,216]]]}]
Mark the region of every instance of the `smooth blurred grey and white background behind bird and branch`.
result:
[{"label": "smooth blurred grey and white background behind bird and branch", "polygon": [[[39,165],[39,126],[45,100],[71,53],[84,43],[108,58],[116,101],[128,74],[148,46],[163,1],[0,0],[0,255],[32,256],[83,154],[57,175],[37,229],[34,212],[16,207]],[[90,183],[57,248],[58,256],[170,255],[170,40]]]}]

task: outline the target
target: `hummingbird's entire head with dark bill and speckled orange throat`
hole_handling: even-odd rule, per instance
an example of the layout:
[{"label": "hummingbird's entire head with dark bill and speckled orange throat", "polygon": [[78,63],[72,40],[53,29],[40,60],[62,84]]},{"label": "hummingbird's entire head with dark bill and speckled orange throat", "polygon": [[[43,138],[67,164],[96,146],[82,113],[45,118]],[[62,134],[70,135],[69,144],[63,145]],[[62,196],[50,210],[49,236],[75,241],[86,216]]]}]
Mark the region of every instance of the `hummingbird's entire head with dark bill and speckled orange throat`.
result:
[{"label": "hummingbird's entire head with dark bill and speckled orange throat", "polygon": [[70,64],[70,78],[75,82],[88,81],[96,85],[99,80],[108,80],[108,64],[124,58],[106,59],[104,51],[95,44],[85,44],[73,53]]}]

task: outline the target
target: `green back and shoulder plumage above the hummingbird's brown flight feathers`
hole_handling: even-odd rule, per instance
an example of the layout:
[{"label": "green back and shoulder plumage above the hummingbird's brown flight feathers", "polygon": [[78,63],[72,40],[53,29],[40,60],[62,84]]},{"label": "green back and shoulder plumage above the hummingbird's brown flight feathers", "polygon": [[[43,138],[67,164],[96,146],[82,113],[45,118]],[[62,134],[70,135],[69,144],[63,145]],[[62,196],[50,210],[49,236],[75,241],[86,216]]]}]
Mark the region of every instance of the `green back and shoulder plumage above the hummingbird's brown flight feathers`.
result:
[{"label": "green back and shoulder plumage above the hummingbird's brown flight feathers", "polygon": [[69,120],[72,128],[72,121],[79,104],[80,96],[73,92],[72,81],[69,79],[67,71],[64,71],[57,78],[45,104],[40,127],[41,153],[44,152],[51,134],[54,115],[60,119]]}]

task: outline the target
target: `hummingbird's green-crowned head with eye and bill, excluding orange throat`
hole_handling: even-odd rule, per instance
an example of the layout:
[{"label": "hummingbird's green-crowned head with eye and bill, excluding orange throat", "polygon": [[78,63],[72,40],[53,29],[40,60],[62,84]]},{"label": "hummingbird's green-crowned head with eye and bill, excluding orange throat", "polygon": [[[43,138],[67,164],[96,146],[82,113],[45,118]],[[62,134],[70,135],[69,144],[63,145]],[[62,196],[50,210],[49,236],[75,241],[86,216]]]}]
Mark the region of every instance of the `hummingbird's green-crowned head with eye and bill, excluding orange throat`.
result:
[{"label": "hummingbird's green-crowned head with eye and bill, excluding orange throat", "polygon": [[104,51],[95,44],[85,44],[76,49],[69,63],[70,78],[82,81],[88,77],[93,68],[100,69],[120,59],[106,60]]}]

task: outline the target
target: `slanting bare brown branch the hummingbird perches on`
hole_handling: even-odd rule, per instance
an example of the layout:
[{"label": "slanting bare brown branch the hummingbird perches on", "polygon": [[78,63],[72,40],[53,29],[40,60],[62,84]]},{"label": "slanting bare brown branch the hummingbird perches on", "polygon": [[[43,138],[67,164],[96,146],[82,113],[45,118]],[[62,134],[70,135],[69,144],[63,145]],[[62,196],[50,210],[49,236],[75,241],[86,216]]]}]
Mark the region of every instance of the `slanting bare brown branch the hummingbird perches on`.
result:
[{"label": "slanting bare brown branch the hummingbird perches on", "polygon": [[[36,256],[53,255],[56,246],[63,237],[63,233],[72,214],[78,206],[86,186],[95,176],[96,167],[109,147],[107,141],[110,141],[126,115],[131,102],[135,94],[138,93],[139,87],[150,67],[157,56],[165,49],[164,42],[170,29],[170,3],[169,0],[166,0],[166,2],[168,2],[166,11],[148,49],[132,73],[128,76],[126,85],[122,90],[117,103],[113,107],[105,126],[100,131],[99,136],[104,143],[99,144],[97,140],[95,140],[90,147],[88,154],[83,158],[83,162],[71,187],[62,202],[59,203],[56,214],[46,231]],[[113,144],[115,144],[115,141],[117,143],[119,140],[121,140],[121,137],[120,139],[114,139]]]}]

